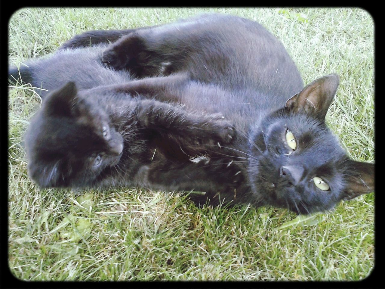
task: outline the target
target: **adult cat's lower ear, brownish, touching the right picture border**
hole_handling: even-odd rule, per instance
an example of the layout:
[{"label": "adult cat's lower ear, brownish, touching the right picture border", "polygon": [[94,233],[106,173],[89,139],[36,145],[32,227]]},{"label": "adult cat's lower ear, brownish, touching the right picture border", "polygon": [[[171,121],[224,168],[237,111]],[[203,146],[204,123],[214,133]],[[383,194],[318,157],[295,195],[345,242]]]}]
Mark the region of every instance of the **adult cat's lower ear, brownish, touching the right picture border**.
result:
[{"label": "adult cat's lower ear, brownish, touching the right picture border", "polygon": [[343,199],[350,200],[374,191],[374,163],[348,161]]}]

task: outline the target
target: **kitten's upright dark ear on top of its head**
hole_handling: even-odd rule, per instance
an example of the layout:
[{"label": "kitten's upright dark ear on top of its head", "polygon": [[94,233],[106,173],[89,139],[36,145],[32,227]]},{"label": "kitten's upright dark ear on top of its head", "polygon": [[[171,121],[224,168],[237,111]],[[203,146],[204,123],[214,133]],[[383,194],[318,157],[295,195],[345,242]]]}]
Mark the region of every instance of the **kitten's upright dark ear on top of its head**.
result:
[{"label": "kitten's upright dark ear on top of its head", "polygon": [[77,94],[75,82],[68,82],[63,87],[52,91],[44,102],[46,115],[70,116],[72,101]]}]

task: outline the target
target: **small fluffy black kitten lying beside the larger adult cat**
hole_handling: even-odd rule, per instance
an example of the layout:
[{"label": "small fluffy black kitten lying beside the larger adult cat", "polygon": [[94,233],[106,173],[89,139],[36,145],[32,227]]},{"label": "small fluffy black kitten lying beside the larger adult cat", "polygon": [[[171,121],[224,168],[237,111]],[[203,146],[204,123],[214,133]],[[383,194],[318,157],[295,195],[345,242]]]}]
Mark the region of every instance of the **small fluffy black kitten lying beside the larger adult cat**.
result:
[{"label": "small fluffy black kitten lying beside the larger adult cat", "polygon": [[[202,168],[203,163],[190,158],[203,154],[208,145],[219,148],[231,142],[231,124],[220,113],[196,113],[159,102],[152,97],[156,87],[151,85],[139,87],[131,81],[131,90],[105,86],[131,80],[128,72],[103,65],[105,47],[60,51],[20,71],[10,69],[9,79],[20,73],[24,82],[44,89],[42,108],[25,135],[31,178],[41,187],[138,185],[183,190],[184,182],[212,175],[214,166]],[[177,164],[170,162],[176,158]],[[153,184],[149,171],[160,165],[167,171],[158,169],[160,181]],[[174,183],[163,176],[173,170],[181,174]],[[222,174],[211,187],[209,179],[193,187],[207,190],[232,181]]]}]

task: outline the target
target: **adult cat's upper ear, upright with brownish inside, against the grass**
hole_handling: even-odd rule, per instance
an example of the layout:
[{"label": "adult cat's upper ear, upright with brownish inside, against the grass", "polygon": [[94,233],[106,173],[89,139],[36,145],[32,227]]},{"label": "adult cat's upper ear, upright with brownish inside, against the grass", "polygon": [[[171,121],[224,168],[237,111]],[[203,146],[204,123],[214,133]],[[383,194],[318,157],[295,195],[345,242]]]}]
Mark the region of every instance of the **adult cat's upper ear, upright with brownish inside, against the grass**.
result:
[{"label": "adult cat's upper ear, upright with brownish inside, against the grass", "polygon": [[340,77],[333,73],[311,82],[301,92],[286,101],[285,108],[297,112],[305,112],[325,119],[333,97],[336,94]]}]

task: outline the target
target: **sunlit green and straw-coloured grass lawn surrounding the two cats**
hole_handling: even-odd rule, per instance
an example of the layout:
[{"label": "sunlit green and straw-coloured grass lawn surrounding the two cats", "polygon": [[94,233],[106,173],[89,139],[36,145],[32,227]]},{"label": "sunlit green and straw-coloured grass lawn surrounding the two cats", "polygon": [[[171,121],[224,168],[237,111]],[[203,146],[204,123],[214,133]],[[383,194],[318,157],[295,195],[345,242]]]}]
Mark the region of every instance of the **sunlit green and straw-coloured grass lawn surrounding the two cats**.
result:
[{"label": "sunlit green and straw-coloured grass lawn surrounding the two cats", "polygon": [[[202,12],[259,21],[277,35],[305,82],[337,72],[327,121],[355,160],[373,161],[374,27],[360,9],[28,8],[9,22],[10,64],[50,54],[85,30],[171,22]],[[22,136],[40,97],[9,90],[9,268],[19,279],[360,280],[374,266],[373,193],[317,222],[283,209],[196,208],[177,193],[141,188],[40,190],[27,176]]]}]

